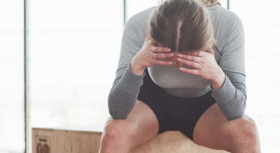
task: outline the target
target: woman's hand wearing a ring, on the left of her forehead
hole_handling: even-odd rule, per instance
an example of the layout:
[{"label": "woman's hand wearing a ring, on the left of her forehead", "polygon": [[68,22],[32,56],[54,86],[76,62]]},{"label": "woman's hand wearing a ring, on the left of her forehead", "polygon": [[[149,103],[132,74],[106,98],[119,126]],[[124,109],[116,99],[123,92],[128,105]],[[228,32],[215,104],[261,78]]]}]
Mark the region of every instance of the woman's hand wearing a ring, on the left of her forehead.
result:
[{"label": "woman's hand wearing a ring, on the left of her forehead", "polygon": [[[149,36],[147,31],[147,35],[142,48],[132,59],[131,64],[133,64],[133,67],[137,68],[137,70],[144,71],[145,68],[151,67],[153,65],[162,65],[162,66],[172,65],[172,61],[158,60],[158,59],[170,58],[174,56],[173,53],[170,53],[171,51],[170,48],[163,47],[162,45],[158,46],[158,44],[159,44],[158,42],[156,42],[153,38]],[[155,53],[157,53],[156,56],[158,59],[154,58]]]}]

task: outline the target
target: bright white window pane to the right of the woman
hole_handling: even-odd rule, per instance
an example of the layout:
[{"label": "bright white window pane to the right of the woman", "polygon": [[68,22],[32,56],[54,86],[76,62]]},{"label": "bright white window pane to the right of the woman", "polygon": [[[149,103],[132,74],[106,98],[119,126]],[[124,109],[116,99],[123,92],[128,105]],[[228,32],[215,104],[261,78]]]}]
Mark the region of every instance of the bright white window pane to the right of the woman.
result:
[{"label": "bright white window pane to the right of the woman", "polygon": [[277,152],[280,142],[279,4],[280,1],[230,1],[230,10],[240,17],[245,31],[245,113],[257,123],[262,152]]}]

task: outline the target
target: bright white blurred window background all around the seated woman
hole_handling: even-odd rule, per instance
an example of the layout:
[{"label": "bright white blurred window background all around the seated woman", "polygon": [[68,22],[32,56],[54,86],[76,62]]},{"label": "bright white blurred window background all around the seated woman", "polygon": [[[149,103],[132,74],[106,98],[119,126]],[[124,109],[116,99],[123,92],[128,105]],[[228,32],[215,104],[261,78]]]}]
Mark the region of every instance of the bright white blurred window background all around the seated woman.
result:
[{"label": "bright white blurred window background all around the seated woman", "polygon": [[[245,28],[245,113],[258,125],[262,152],[279,152],[280,1],[220,2]],[[0,153],[30,153],[32,127],[102,130],[125,21],[155,5],[0,0]]]}]

